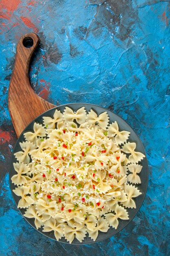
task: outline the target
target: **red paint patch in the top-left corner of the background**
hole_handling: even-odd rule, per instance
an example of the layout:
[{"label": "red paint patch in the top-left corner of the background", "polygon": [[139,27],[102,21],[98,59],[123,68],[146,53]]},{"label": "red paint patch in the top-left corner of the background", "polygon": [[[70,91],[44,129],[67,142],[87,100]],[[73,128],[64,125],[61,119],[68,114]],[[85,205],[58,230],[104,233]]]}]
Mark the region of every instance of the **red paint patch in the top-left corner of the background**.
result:
[{"label": "red paint patch in the top-left corner of the background", "polygon": [[0,1],[0,17],[9,20],[13,11],[15,11],[20,4],[20,0],[1,0]]}]

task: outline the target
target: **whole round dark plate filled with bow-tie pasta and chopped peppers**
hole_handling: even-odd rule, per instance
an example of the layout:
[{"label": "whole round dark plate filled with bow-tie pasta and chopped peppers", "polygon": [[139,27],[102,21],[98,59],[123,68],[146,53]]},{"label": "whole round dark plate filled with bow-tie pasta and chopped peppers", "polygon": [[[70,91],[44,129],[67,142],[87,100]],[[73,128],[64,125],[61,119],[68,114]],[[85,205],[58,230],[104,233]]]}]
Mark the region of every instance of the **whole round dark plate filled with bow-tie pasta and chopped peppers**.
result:
[{"label": "whole round dark plate filled with bow-tie pasta and chopped peppers", "polygon": [[13,149],[15,203],[43,235],[72,244],[113,236],[135,217],[148,162],[135,131],[115,113],[86,103],[33,120]]}]

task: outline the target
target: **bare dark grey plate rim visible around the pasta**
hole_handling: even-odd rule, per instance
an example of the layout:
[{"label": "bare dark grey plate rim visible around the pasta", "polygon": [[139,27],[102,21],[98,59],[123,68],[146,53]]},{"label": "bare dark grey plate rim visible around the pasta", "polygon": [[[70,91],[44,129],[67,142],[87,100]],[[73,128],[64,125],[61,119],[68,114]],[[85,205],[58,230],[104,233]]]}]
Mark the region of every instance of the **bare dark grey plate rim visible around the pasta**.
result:
[{"label": "bare dark grey plate rim visible around the pasta", "polygon": [[[102,108],[93,104],[87,104],[87,103],[71,103],[71,104],[66,104],[66,105],[62,105],[62,106],[58,106],[55,108],[52,108],[51,110],[48,110],[46,112],[44,112],[42,115],[40,115],[39,117],[37,117],[36,119],[34,119],[21,133],[20,137],[18,138],[15,147],[13,148],[13,153],[11,156],[11,161],[10,161],[10,168],[9,168],[9,183],[10,183],[10,188],[11,188],[11,192],[13,195],[13,199],[15,201],[15,203],[18,205],[18,202],[20,200],[20,197],[18,197],[17,195],[15,195],[13,193],[13,189],[15,189],[15,185],[11,182],[11,177],[16,174],[14,168],[13,168],[13,162],[16,162],[16,158],[14,156],[14,153],[20,151],[20,142],[24,141],[24,133],[26,131],[33,131],[33,124],[34,122],[38,122],[40,124],[42,124],[42,117],[44,116],[49,116],[49,117],[53,117],[53,114],[55,112],[55,110],[60,110],[61,112],[63,112],[64,108],[68,106],[70,108],[73,109],[73,111],[77,111],[77,109],[82,108],[83,106],[85,107],[86,111],[90,111],[91,109],[95,110],[95,112],[97,113],[97,115],[100,115],[102,112],[107,111],[108,115],[110,117],[110,123],[117,121],[118,125],[119,125],[119,130],[127,130],[130,132],[130,137],[129,137],[129,141],[130,142],[135,142],[137,147],[136,150],[143,153],[146,156],[145,150],[144,150],[144,146],[142,145],[139,137],[136,135],[135,131],[126,123],[126,121],[124,121],[124,119],[122,119],[121,117],[119,117],[118,115],[116,115],[115,113],[111,112],[110,110],[107,110],[106,108]],[[148,161],[147,158],[145,157],[142,161],[141,164],[143,166],[141,173],[140,173],[140,178],[141,178],[141,184],[137,185],[137,188],[141,191],[141,195],[139,195],[137,198],[134,198],[135,203],[136,203],[136,209],[127,209],[128,214],[129,214],[129,220],[121,220],[119,219],[119,225],[117,227],[117,229],[114,229],[112,227],[110,227],[110,229],[108,229],[108,231],[106,233],[103,233],[101,231],[99,231],[99,235],[97,237],[97,239],[95,240],[95,242],[99,242],[102,241],[106,238],[109,238],[110,236],[115,235],[117,232],[119,232],[121,229],[123,229],[124,227],[126,227],[130,221],[135,217],[135,215],[137,214],[137,212],[139,211],[142,202],[144,201],[145,198],[145,194],[146,194],[146,190],[147,190],[147,186],[148,186]],[[20,213],[23,215],[24,212],[26,211],[26,209],[19,209]],[[34,218],[26,218],[24,217],[30,224],[32,227],[35,227],[34,224]],[[37,230],[37,229],[36,229]],[[55,236],[54,236],[54,232],[42,232],[42,227],[40,229],[38,229],[38,231],[40,233],[42,233],[45,236],[48,236],[49,238],[52,238],[54,240]],[[65,238],[60,239],[60,242],[64,242],[64,243],[68,243],[66,241]],[[76,238],[73,240],[72,244],[88,244],[88,243],[95,243],[93,242],[93,240],[88,237],[88,234],[86,234],[86,237],[84,238],[84,240],[82,241],[82,243],[80,243]]]}]

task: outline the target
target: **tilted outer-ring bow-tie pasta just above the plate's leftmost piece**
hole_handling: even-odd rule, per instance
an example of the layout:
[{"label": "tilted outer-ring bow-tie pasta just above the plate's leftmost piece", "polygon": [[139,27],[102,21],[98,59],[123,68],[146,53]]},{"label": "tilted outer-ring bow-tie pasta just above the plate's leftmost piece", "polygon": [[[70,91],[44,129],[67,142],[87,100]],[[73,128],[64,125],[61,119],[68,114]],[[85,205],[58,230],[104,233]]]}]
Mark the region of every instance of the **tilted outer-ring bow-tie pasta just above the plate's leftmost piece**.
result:
[{"label": "tilted outer-ring bow-tie pasta just above the plate's leftmost piece", "polygon": [[23,151],[16,152],[14,155],[19,163],[29,164],[32,150],[36,148],[36,146],[32,142],[20,142],[20,147]]}]

